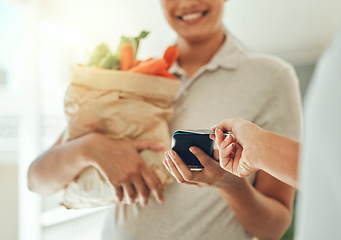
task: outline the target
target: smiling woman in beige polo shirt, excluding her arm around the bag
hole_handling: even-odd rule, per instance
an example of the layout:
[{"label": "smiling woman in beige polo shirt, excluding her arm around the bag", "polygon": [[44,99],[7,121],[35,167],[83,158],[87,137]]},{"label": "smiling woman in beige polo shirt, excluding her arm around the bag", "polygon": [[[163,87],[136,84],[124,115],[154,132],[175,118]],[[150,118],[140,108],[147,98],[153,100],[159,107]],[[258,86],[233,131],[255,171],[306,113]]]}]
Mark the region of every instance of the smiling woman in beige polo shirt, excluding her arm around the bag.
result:
[{"label": "smiling woman in beige polo shirt, excluding her arm around the bag", "polygon": [[[180,51],[171,68],[182,80],[171,130],[208,129],[234,116],[299,139],[300,96],[292,67],[239,48],[224,31],[224,2],[161,1]],[[167,151],[165,166],[181,184],[165,190],[163,206],[152,200],[144,208],[115,206],[103,239],[280,238],[290,225],[294,189],[264,172],[234,177],[200,150],[196,154],[205,168],[193,173]]]}]

